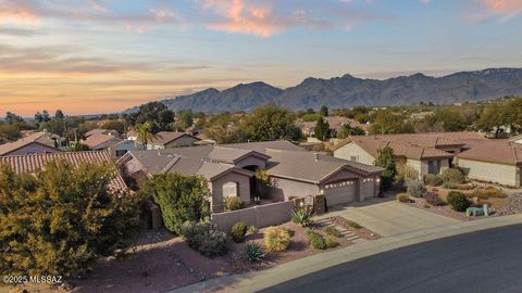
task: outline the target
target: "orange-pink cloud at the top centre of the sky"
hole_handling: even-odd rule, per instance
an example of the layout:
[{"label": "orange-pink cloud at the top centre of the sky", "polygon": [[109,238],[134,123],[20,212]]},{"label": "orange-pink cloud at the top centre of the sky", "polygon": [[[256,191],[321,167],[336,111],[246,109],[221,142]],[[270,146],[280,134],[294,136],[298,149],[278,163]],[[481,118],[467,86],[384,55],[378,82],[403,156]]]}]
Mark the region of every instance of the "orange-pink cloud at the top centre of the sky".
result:
[{"label": "orange-pink cloud at the top centre of the sky", "polygon": [[247,0],[206,0],[203,8],[213,9],[225,18],[208,24],[215,30],[270,37],[291,25],[288,20],[276,16],[270,3],[254,5]]}]

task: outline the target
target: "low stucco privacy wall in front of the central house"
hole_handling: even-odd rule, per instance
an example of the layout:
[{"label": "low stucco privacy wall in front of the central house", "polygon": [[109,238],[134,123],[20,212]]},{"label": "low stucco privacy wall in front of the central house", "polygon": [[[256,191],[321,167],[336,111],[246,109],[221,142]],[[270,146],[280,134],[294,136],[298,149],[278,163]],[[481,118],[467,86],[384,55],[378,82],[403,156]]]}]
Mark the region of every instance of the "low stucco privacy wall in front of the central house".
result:
[{"label": "low stucco privacy wall in front of the central house", "polygon": [[248,226],[263,228],[275,226],[290,220],[294,202],[281,202],[265,205],[256,205],[238,211],[214,213],[211,215],[213,222],[221,229],[229,231],[232,226],[243,221]]}]

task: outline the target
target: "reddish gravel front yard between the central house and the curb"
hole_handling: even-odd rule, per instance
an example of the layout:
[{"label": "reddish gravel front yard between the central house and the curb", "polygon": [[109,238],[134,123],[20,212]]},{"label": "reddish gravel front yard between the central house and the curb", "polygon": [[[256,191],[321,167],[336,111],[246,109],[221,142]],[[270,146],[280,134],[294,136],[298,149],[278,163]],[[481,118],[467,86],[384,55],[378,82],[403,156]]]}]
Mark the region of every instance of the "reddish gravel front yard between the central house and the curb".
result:
[{"label": "reddish gravel front yard between the central house and the curb", "polygon": [[[351,225],[351,226],[350,226]],[[339,232],[330,235],[334,227]],[[140,239],[140,245],[136,251],[129,251],[123,257],[108,258],[87,276],[70,281],[73,292],[165,292],[182,288],[199,281],[219,278],[223,276],[248,272],[252,270],[268,269],[278,264],[284,264],[328,250],[337,250],[352,245],[355,239],[377,239],[378,234],[351,222],[343,229],[338,220],[327,219],[312,224],[310,227],[301,227],[295,222],[286,222],[276,228],[289,231],[290,241],[288,247],[279,253],[268,252],[263,241],[263,233],[268,228],[259,229],[256,233],[247,234],[246,242],[227,242],[228,251],[223,256],[213,258],[206,257],[190,249],[181,237],[173,237],[165,230],[157,232],[148,231]],[[311,246],[307,235],[314,231],[328,243],[336,242],[335,247],[324,250]],[[353,238],[353,234],[357,237]],[[247,242],[256,242],[262,245],[266,256],[262,262],[250,263],[244,256],[244,246]]]}]

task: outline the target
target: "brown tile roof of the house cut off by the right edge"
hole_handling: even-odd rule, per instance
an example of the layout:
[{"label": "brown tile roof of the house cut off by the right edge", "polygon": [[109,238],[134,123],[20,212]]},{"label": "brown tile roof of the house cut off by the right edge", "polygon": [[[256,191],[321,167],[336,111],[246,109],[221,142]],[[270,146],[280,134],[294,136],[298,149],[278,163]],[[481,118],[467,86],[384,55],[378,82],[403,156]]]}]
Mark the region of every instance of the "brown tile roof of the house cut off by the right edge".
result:
[{"label": "brown tile roof of the house cut off by the right edge", "polygon": [[457,157],[517,165],[522,164],[522,145],[505,139],[489,140],[458,154]]}]

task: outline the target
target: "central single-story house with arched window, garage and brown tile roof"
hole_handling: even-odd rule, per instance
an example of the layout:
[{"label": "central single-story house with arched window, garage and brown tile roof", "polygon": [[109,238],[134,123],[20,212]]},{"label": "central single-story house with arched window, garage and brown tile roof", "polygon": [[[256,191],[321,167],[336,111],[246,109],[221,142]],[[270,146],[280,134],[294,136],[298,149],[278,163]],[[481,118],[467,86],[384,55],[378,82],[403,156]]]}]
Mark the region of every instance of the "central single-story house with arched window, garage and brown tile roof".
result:
[{"label": "central single-story house with arched window, garage and brown tile roof", "polygon": [[[208,180],[213,212],[224,199],[251,203],[258,193],[287,201],[324,194],[328,206],[363,201],[380,192],[382,168],[306,152],[288,141],[203,145],[136,151],[116,163],[126,176],[141,182],[159,173],[200,175]],[[258,187],[254,170],[265,169],[271,187]]]}]

